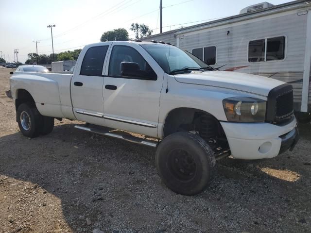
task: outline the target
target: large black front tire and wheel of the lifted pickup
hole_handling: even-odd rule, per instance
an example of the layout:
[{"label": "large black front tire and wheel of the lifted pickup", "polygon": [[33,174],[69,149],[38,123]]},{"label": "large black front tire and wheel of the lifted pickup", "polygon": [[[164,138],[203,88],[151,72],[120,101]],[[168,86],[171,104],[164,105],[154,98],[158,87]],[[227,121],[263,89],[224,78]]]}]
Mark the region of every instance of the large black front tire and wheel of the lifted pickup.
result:
[{"label": "large black front tire and wheel of the lifted pickup", "polygon": [[167,187],[188,196],[202,192],[216,173],[214,152],[200,136],[189,132],[165,137],[157,147],[155,164]]}]

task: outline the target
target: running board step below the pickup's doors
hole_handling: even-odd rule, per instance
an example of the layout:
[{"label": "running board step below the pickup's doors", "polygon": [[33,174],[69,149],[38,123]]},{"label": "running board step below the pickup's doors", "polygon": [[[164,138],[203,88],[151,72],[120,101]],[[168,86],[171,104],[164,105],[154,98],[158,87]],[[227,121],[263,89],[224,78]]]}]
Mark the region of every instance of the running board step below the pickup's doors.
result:
[{"label": "running board step below the pickup's doors", "polygon": [[144,146],[154,147],[154,148],[158,144],[157,141],[148,140],[148,139],[144,139],[144,138],[140,138],[140,137],[135,137],[131,134],[128,134],[128,133],[125,133],[122,131],[114,132],[114,129],[99,127],[99,126],[91,125],[91,124],[85,124],[84,126],[75,125],[74,128],[80,129],[80,130],[85,130],[85,131],[88,131],[91,133],[97,133],[97,134],[101,134],[101,135],[105,135],[105,136],[109,136],[109,137],[122,139],[122,140],[125,140],[128,142],[133,142],[133,143],[137,143],[137,144],[144,145]]}]

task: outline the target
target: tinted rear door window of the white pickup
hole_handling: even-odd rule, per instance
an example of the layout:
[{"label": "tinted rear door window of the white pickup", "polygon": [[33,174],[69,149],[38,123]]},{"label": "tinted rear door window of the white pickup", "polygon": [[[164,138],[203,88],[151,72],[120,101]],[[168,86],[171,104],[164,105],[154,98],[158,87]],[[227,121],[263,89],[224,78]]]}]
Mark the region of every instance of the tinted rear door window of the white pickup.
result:
[{"label": "tinted rear door window of the white pickup", "polygon": [[102,76],[108,46],[89,48],[83,58],[80,75]]}]

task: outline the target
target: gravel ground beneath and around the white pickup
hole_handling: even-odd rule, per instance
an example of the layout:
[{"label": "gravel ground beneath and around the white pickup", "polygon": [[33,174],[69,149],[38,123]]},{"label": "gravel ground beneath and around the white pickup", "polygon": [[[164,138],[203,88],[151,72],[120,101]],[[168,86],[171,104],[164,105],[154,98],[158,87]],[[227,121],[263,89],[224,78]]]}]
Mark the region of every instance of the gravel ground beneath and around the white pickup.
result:
[{"label": "gravel ground beneath and around the white pickup", "polygon": [[[311,232],[311,124],[293,152],[270,160],[220,161],[193,197],[161,183],[155,150],[74,129],[29,139],[0,67],[0,232]],[[94,231],[100,233],[100,231]]]}]

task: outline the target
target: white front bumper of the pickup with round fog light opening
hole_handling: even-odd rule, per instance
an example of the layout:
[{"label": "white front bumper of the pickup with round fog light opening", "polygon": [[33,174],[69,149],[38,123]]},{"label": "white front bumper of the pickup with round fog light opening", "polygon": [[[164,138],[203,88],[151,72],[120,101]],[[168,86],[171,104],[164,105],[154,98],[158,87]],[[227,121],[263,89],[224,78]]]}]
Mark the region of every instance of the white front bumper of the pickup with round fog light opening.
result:
[{"label": "white front bumper of the pickup with round fog light opening", "polygon": [[296,119],[287,125],[221,122],[231,154],[237,159],[273,158],[293,149],[298,140]]}]

